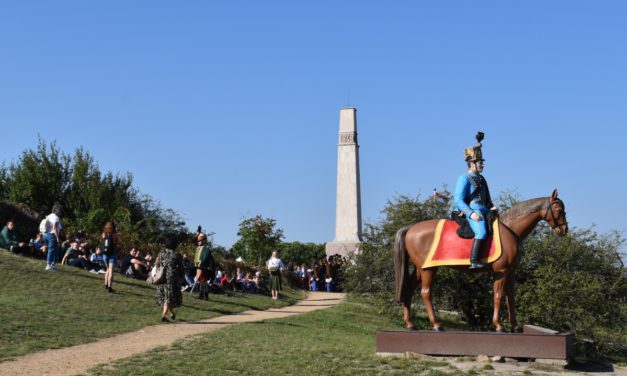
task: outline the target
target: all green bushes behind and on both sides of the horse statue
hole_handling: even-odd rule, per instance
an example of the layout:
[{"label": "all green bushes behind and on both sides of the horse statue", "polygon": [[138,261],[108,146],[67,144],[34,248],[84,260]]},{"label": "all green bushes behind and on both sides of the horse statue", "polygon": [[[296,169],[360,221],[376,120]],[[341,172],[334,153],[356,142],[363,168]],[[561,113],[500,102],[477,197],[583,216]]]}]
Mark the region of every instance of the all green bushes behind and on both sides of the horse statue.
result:
[{"label": "all green bushes behind and on both sides of the horse statue", "polygon": [[[506,192],[497,200],[501,211],[519,200]],[[568,201],[566,201],[568,207]],[[382,219],[365,225],[362,252],[346,271],[345,288],[366,295],[382,313],[398,318],[394,299],[392,245],[398,229],[419,221],[446,218],[447,203],[420,197],[396,196],[382,210]],[[565,237],[550,233],[544,222],[523,242],[516,271],[518,321],[574,334],[578,357],[614,358],[625,361],[627,343],[627,273],[617,232],[600,235],[593,230],[571,228]],[[419,289],[418,289],[419,291]],[[458,312],[469,329],[491,326],[492,280],[488,273],[460,273],[441,268],[434,283],[437,309]],[[420,294],[414,296],[421,313]],[[503,305],[504,306],[504,305]],[[502,309],[506,315],[507,310]],[[505,323],[507,322],[504,316]],[[430,329],[428,320],[424,329]]]}]

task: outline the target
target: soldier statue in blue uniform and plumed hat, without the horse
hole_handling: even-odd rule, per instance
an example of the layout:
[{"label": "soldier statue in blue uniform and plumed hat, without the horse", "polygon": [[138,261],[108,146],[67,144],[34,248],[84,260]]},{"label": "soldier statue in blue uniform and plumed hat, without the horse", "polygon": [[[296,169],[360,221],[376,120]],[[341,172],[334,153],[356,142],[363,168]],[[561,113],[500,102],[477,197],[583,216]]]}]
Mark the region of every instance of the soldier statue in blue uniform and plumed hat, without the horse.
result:
[{"label": "soldier statue in blue uniform and plumed hat, without the horse", "polygon": [[457,179],[455,185],[455,207],[464,213],[470,223],[470,228],[475,233],[470,252],[470,269],[481,269],[488,264],[479,261],[479,254],[483,240],[486,238],[488,225],[487,217],[490,211],[496,211],[496,207],[490,198],[488,183],[481,175],[484,159],[481,153],[481,141],[483,132],[477,133],[477,145],[464,150],[464,158],[468,165],[468,171]]}]

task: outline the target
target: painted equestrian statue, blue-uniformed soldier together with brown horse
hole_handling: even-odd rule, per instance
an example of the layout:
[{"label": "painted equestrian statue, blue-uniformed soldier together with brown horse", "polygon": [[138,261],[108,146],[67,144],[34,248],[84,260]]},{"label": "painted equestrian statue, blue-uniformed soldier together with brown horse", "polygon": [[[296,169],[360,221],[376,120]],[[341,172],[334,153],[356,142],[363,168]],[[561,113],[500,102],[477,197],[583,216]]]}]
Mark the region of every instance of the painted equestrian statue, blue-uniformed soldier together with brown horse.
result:
[{"label": "painted equestrian statue, blue-uniformed soldier together with brown horse", "polygon": [[[494,277],[494,311],[492,323],[496,331],[504,331],[500,320],[501,301],[506,298],[512,332],[521,332],[516,321],[514,299],[515,271],[520,261],[520,243],[541,220],[553,232],[568,232],[564,202],[557,190],[550,197],[520,202],[502,214],[492,203],[485,178],[481,141],[464,150],[468,167],[457,179],[451,219],[431,219],[405,226],[394,240],[394,275],[396,300],[403,304],[403,320],[408,329],[415,329],[411,320],[411,300],[420,286],[420,295],[433,329],[443,330],[433,310],[431,286],[441,266],[460,271],[490,272]],[[409,272],[409,260],[415,269]]]}]

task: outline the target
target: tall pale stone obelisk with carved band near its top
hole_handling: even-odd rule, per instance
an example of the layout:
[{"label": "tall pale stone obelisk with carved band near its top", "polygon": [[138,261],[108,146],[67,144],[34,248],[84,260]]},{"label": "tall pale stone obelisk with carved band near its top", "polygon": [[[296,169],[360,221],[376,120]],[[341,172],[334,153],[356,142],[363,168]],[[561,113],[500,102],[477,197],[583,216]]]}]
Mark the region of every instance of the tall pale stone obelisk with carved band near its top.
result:
[{"label": "tall pale stone obelisk with carved band near its top", "polygon": [[354,252],[361,242],[361,192],[357,109],[340,110],[340,142],[337,147],[337,197],[335,239],[326,244],[326,254]]}]

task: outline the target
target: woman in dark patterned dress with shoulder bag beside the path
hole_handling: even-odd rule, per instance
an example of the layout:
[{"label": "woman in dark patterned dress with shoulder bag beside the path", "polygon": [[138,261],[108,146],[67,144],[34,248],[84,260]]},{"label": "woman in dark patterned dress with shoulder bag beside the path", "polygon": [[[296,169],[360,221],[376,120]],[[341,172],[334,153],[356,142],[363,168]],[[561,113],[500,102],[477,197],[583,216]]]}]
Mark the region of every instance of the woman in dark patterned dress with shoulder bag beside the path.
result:
[{"label": "woman in dark patterned dress with shoulder bag beside the path", "polygon": [[157,304],[163,307],[161,322],[169,322],[166,315],[170,312],[170,318],[176,320],[174,308],[180,307],[183,303],[183,293],[181,284],[185,280],[183,270],[183,256],[177,251],[177,242],[173,237],[165,239],[165,249],[157,256],[157,267],[163,267],[165,282],[157,286]]}]

